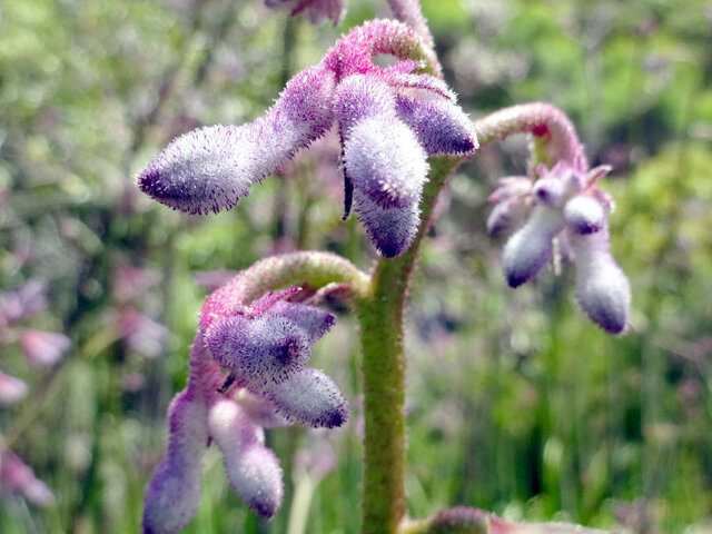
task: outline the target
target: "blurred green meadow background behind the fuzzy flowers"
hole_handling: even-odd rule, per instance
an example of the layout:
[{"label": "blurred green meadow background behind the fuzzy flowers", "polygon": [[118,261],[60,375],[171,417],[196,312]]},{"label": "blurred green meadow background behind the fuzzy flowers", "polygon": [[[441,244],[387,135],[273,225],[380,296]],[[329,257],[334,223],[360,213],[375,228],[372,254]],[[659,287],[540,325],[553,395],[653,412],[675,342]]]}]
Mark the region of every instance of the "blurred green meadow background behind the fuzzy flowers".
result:
[{"label": "blurred green meadow background behind the fuzzy flowers", "polygon": [[[337,29],[287,20],[258,0],[0,7],[0,290],[48,280],[50,309],[34,326],[65,332],[75,347],[57,367],[22,374],[19,350],[3,346],[0,366],[31,394],[0,411],[0,443],[57,502],[3,501],[0,532],[139,532],[206,294],[196,273],[297,248],[368,268],[362,229],[340,221],[335,139],[207,218],[155,205],[131,178],[184,131],[260,115],[342,31],[388,16],[385,2],[350,3]],[[408,308],[411,515],[462,504],[512,520],[709,532],[712,6],[428,0],[424,12],[473,117],[551,101],[574,119],[592,162],[614,166],[603,187],[617,200],[612,246],[634,300],[631,332],[610,338],[576,308],[566,266],[510,289],[503,241],[484,229],[486,198],[497,178],[524,171],[526,140],[463,166]],[[127,309],[168,327],[158,352],[118,326]],[[356,533],[359,364],[347,315],[314,358],[347,392],[352,422],[320,437],[338,463],[314,496],[308,532]],[[293,457],[309,435],[269,435],[287,495],[268,523],[209,456],[187,532],[285,532]]]}]

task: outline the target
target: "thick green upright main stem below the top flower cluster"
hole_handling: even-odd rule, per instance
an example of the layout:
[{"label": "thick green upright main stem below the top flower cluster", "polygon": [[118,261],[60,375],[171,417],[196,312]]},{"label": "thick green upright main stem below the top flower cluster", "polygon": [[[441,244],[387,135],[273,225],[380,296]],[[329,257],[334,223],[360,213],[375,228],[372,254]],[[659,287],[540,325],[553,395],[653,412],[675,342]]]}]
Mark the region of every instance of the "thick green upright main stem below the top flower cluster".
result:
[{"label": "thick green upright main stem below the top flower cluster", "polygon": [[363,532],[366,534],[394,534],[405,517],[403,313],[411,275],[431,226],[437,195],[461,161],[456,157],[431,160],[429,181],[421,202],[421,228],[413,245],[397,258],[380,258],[367,297],[356,300],[364,355]]}]

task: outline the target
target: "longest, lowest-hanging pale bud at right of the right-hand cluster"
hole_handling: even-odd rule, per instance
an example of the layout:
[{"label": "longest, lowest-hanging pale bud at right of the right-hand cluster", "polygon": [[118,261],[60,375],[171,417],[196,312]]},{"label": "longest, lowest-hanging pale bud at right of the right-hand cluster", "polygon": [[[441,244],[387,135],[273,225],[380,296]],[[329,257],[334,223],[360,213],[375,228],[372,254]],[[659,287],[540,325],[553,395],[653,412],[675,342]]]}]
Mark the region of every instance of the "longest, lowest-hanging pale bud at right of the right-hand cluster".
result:
[{"label": "longest, lowest-hanging pale bud at right of the right-hand cluster", "polygon": [[572,231],[571,241],[578,304],[609,334],[622,334],[627,328],[631,287],[609,250],[607,228],[585,235]]}]

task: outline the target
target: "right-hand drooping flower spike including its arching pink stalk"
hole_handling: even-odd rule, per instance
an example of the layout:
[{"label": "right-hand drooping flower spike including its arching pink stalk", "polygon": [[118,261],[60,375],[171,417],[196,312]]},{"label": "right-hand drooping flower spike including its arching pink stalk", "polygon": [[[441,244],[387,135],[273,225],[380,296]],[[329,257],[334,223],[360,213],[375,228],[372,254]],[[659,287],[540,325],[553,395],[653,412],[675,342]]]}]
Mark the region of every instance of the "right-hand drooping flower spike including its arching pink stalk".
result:
[{"label": "right-hand drooping flower spike including its arching pink stalk", "polygon": [[[552,259],[554,240],[571,245],[576,268],[576,300],[601,328],[622,334],[629,326],[631,289],[627,278],[609,250],[607,215],[612,198],[596,187],[611,171],[609,166],[587,168],[583,148],[568,119],[543,103],[515,106],[497,111],[477,123],[486,144],[515,131],[528,131],[543,142],[536,180],[513,177],[500,180],[490,196],[495,208],[487,219],[492,234],[516,229],[504,247],[503,267],[507,283],[517,287]],[[530,208],[531,214],[530,214]]]}]

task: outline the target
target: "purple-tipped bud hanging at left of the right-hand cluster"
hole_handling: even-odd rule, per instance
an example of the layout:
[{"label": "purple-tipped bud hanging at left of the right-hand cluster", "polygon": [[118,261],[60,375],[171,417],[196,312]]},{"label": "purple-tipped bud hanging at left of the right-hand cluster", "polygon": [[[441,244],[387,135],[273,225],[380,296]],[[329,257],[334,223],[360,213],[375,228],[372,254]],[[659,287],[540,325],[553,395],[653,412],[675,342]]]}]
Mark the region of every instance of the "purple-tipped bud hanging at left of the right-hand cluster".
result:
[{"label": "purple-tipped bud hanging at left of the right-hand cluster", "polygon": [[512,287],[534,278],[552,257],[553,239],[564,229],[564,217],[557,209],[538,205],[530,220],[504,247],[504,276]]}]

